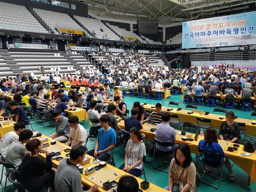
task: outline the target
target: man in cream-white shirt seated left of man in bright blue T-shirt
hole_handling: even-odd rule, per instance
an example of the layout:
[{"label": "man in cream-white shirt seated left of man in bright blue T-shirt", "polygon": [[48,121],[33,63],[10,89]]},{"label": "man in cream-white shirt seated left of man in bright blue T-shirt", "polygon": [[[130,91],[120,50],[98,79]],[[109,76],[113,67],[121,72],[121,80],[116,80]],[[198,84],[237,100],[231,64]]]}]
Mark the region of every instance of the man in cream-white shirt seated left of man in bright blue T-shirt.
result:
[{"label": "man in cream-white shirt seated left of man in bright blue T-shirt", "polygon": [[70,137],[68,138],[67,145],[74,147],[76,145],[85,145],[87,140],[86,129],[78,123],[78,116],[70,116],[68,119],[70,124]]}]

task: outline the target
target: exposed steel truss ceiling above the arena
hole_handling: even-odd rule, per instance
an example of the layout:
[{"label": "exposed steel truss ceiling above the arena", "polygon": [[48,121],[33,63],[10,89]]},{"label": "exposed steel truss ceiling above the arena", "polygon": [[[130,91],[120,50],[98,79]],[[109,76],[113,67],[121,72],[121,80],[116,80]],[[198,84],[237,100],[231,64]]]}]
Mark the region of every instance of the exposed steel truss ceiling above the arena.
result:
[{"label": "exposed steel truss ceiling above the arena", "polygon": [[88,4],[96,16],[121,20],[158,20],[173,24],[255,10],[256,0],[73,0]]}]

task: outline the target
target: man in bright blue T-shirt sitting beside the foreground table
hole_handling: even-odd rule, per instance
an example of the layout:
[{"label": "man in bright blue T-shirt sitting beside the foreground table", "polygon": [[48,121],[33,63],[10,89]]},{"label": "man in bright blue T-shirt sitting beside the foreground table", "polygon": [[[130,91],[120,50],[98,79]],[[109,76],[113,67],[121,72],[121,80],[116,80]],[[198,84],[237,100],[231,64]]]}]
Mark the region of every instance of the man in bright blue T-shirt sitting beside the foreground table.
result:
[{"label": "man in bright blue T-shirt sitting beside the foreground table", "polygon": [[87,152],[98,160],[107,161],[116,144],[116,132],[109,126],[110,117],[106,114],[100,117],[100,128],[95,149]]}]

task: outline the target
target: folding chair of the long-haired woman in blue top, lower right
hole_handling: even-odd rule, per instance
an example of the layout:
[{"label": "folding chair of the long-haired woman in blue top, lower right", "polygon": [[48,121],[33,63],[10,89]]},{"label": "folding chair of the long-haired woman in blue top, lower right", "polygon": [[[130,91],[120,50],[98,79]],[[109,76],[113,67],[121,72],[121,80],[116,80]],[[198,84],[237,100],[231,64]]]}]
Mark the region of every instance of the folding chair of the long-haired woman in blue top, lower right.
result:
[{"label": "folding chair of the long-haired woman in blue top, lower right", "polygon": [[[215,178],[218,178],[219,179],[219,185],[218,186],[214,186],[208,182],[205,182],[203,180],[201,180],[201,182],[203,182],[204,184],[207,184],[213,188],[216,188],[218,189],[220,187],[220,184],[221,184],[221,181],[224,180],[222,179],[222,175],[223,175],[223,168],[224,168],[224,161],[222,161],[222,155],[220,153],[212,153],[212,152],[208,152],[206,150],[203,150],[202,148],[199,149],[200,151],[200,154],[198,156],[198,161],[197,161],[197,172],[199,170],[199,162],[202,163],[204,165],[204,170],[206,168],[206,166],[209,166],[209,167],[212,167],[212,168],[216,168],[216,169],[221,169],[221,173],[220,173],[220,177],[214,175],[214,174],[211,174],[211,173],[206,173],[208,175],[211,175],[211,176],[214,176]],[[210,158],[216,158],[216,160],[220,160],[219,162],[220,163],[215,163],[215,164],[212,164],[210,162],[206,162],[204,160],[204,156],[208,156]],[[217,161],[216,161],[217,162]]]}]

